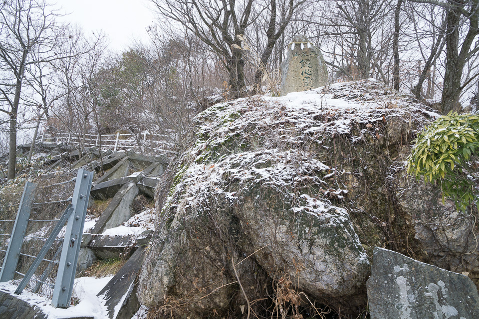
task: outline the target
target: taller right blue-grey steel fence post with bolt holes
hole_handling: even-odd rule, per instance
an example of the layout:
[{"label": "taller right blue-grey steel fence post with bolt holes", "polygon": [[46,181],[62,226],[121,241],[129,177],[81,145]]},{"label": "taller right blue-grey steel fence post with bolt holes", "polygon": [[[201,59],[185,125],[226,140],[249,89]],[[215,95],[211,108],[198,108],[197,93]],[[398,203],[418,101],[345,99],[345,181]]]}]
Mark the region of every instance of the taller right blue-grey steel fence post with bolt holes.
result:
[{"label": "taller right blue-grey steel fence post with bolt holes", "polygon": [[51,305],[54,308],[67,308],[70,304],[92,180],[93,172],[83,168],[78,171],[71,201],[74,211],[68,218],[58,264],[58,274],[51,298]]}]

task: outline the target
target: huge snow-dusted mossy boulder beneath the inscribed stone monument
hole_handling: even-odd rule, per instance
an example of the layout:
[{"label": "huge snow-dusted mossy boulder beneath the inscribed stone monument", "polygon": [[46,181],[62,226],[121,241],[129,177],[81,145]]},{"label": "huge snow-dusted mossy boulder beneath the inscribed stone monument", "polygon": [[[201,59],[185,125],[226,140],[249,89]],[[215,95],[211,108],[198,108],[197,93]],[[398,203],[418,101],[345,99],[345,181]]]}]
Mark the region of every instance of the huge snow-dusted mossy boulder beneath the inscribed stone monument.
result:
[{"label": "huge snow-dusted mossy boulder beneath the inscribed stone monument", "polygon": [[374,246],[478,273],[474,216],[405,174],[436,117],[373,80],[207,109],[157,186],[141,303],[191,319],[241,317],[248,303],[262,316],[328,305],[356,318]]}]

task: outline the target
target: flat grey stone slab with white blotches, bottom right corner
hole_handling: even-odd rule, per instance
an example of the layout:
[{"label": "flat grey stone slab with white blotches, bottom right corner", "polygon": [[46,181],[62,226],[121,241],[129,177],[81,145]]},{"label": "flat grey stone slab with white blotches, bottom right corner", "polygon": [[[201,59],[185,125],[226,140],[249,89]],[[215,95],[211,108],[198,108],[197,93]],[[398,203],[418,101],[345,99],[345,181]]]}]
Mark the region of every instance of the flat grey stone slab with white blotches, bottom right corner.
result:
[{"label": "flat grey stone slab with white blotches, bottom right corner", "polygon": [[376,247],[368,302],[371,319],[479,318],[471,279]]}]

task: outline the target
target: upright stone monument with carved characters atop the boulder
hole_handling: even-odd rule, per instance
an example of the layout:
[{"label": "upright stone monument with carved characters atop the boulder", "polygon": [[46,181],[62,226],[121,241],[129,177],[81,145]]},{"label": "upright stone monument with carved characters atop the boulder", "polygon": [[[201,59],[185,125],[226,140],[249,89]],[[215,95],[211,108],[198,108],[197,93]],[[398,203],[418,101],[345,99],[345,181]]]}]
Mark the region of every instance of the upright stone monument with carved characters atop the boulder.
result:
[{"label": "upright stone monument with carved characters atop the boulder", "polygon": [[281,63],[281,95],[301,92],[326,85],[328,71],[323,55],[304,35],[289,44],[286,60]]}]

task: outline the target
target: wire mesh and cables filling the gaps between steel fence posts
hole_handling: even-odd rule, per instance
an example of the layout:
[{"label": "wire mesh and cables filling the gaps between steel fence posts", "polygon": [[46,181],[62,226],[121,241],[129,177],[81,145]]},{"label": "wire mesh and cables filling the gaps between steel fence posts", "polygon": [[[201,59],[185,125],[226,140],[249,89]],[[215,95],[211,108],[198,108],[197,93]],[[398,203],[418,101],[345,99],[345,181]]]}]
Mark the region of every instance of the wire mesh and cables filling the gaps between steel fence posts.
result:
[{"label": "wire mesh and cables filling the gaps between steel fence posts", "polygon": [[[12,284],[19,285],[37,258],[40,250],[57,225],[59,217],[72,200],[75,187],[74,172],[61,176],[41,178],[35,187],[28,223],[22,239],[18,262],[13,273]],[[0,261],[3,262],[8,249],[15,218],[18,212],[19,194],[2,194],[0,199]],[[26,283],[25,289],[51,298],[62,251],[65,224],[54,238],[39,266]]]}]

